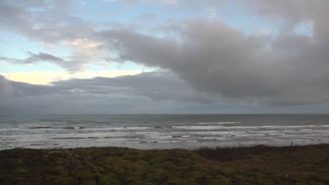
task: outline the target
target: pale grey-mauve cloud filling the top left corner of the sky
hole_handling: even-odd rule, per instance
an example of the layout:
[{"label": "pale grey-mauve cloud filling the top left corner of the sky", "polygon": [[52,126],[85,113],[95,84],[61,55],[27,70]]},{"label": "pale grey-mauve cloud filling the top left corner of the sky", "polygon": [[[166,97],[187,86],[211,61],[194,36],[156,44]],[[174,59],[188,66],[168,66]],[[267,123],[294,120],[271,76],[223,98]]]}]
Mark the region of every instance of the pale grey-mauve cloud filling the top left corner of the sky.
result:
[{"label": "pale grey-mauve cloud filling the top left corner of the sky", "polygon": [[[21,2],[21,1],[20,1]],[[1,28],[28,39],[58,43],[63,40],[90,36],[93,29],[82,19],[68,15],[72,1],[48,1],[33,11],[30,4],[0,1]]]}]

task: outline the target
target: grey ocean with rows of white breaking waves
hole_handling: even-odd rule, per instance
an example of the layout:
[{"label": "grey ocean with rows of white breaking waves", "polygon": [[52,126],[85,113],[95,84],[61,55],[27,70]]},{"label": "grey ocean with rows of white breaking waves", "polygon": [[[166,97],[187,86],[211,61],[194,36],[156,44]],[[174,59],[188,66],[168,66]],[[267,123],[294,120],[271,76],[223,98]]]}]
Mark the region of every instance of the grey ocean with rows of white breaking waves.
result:
[{"label": "grey ocean with rows of white breaking waves", "polygon": [[0,149],[288,146],[329,142],[329,115],[0,116]]}]

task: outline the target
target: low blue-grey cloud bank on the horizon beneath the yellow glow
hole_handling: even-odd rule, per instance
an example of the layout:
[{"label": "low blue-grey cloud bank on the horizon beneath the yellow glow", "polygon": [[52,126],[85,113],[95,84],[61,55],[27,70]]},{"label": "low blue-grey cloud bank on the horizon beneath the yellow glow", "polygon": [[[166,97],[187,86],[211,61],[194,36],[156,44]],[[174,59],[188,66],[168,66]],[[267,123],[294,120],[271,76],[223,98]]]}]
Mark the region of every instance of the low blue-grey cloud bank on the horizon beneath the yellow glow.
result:
[{"label": "low blue-grey cloud bank on the horizon beneath the yellow glow", "polygon": [[2,114],[115,114],[183,111],[188,104],[216,102],[168,71],[115,78],[70,79],[51,85],[8,81],[1,76]]}]

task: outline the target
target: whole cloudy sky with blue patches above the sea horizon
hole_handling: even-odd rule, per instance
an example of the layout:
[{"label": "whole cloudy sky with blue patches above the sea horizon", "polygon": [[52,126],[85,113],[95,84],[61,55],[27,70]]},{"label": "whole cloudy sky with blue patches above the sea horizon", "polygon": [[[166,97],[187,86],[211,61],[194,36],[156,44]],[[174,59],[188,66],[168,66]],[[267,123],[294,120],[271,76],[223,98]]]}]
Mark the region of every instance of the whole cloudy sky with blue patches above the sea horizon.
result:
[{"label": "whole cloudy sky with blue patches above the sea horizon", "polygon": [[1,0],[0,114],[329,114],[327,0]]}]

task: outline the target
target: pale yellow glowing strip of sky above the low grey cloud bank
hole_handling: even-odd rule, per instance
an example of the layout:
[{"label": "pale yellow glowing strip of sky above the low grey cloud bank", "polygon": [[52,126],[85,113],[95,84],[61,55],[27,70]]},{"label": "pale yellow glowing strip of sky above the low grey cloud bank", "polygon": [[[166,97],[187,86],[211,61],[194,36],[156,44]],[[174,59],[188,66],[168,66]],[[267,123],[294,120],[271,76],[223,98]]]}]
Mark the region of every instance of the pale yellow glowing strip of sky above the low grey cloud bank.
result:
[{"label": "pale yellow glowing strip of sky above the low grey cloud bank", "polygon": [[120,71],[120,70],[102,70],[96,73],[79,72],[76,74],[69,74],[66,72],[48,71],[48,72],[29,72],[29,73],[11,73],[1,75],[5,76],[11,81],[20,81],[25,83],[50,85],[53,81],[63,81],[70,78],[94,78],[94,77],[108,77],[113,78],[117,76],[141,74],[143,71]]}]

